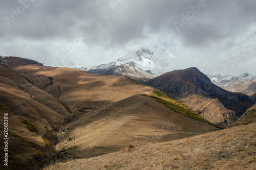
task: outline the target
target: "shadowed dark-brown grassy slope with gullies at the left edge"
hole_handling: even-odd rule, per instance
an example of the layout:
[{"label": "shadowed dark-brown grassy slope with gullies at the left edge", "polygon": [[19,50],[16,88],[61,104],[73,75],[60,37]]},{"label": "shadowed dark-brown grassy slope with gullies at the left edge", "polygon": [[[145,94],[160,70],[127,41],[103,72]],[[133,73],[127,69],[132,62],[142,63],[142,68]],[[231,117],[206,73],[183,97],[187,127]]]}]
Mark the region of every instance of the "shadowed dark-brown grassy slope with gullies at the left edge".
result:
[{"label": "shadowed dark-brown grassy slope with gullies at the left edge", "polygon": [[[1,147],[4,113],[8,113],[10,169],[40,168],[49,162],[56,152],[46,142],[53,146],[57,141],[54,130],[73,119],[52,95],[30,84],[17,71],[0,65]],[[45,154],[38,155],[39,150]]]}]

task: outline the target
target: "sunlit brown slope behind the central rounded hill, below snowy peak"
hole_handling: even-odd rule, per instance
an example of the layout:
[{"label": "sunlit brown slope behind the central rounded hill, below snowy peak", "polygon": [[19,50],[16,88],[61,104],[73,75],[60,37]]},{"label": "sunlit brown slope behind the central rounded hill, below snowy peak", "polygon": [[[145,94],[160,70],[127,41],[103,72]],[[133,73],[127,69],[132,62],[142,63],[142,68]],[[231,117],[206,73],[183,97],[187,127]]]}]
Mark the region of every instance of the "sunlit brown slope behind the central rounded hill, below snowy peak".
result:
[{"label": "sunlit brown slope behind the central rounded hill, below snowy peak", "polygon": [[22,72],[36,86],[66,104],[75,115],[135,94],[152,91],[150,87],[129,83],[124,76],[94,75],[74,68],[25,65],[16,67],[15,70]]}]

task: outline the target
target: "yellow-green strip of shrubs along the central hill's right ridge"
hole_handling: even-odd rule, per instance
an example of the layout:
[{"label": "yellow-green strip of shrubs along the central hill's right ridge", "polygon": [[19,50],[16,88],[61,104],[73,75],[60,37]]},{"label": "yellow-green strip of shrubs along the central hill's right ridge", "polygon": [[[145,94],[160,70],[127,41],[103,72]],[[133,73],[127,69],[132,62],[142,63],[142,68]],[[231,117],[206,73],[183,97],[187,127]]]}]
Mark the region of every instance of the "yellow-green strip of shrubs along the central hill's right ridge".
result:
[{"label": "yellow-green strip of shrubs along the central hill's right ridge", "polygon": [[[192,109],[188,108],[183,103],[169,98],[165,93],[161,92],[160,90],[155,89],[154,92],[151,94],[151,98],[155,99],[157,102],[167,106],[168,108],[172,109],[175,112],[178,112],[178,113],[183,114],[187,117],[199,120],[201,122],[207,123],[211,126],[220,128],[220,127],[212,124],[211,122],[209,122],[208,120],[206,120],[202,116],[196,114]],[[223,128],[220,128],[220,129],[223,129]]]}]

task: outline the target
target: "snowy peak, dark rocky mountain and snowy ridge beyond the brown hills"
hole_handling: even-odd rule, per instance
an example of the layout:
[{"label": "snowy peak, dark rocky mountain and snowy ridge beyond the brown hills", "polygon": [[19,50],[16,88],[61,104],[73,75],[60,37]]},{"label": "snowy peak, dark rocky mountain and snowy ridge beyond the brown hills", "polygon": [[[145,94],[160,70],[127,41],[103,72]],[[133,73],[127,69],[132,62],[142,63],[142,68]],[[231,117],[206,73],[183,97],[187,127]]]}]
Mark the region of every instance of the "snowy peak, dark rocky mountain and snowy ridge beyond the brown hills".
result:
[{"label": "snowy peak, dark rocky mountain and snowy ridge beyond the brown hills", "polygon": [[[108,64],[96,67],[74,65],[72,67],[99,75],[129,76],[139,83],[164,91],[170,98],[181,100],[195,112],[221,127],[236,122],[255,102],[252,94],[256,93],[256,76],[204,75],[197,68],[165,73],[165,70],[170,69],[173,58],[175,56],[166,48],[154,45],[154,47],[140,47],[137,51],[132,51]],[[247,95],[250,95],[250,99]],[[241,101],[242,105],[237,103]]]}]

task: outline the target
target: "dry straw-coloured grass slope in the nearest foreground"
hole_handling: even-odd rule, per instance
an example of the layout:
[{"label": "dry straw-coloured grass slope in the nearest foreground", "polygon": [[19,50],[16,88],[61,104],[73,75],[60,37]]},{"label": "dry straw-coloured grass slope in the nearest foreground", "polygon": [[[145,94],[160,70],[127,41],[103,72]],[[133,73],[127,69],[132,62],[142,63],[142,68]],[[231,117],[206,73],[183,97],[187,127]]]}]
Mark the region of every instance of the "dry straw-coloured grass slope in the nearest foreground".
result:
[{"label": "dry straw-coloured grass slope in the nearest foreground", "polygon": [[255,169],[256,123],[163,143],[140,145],[50,169]]}]

